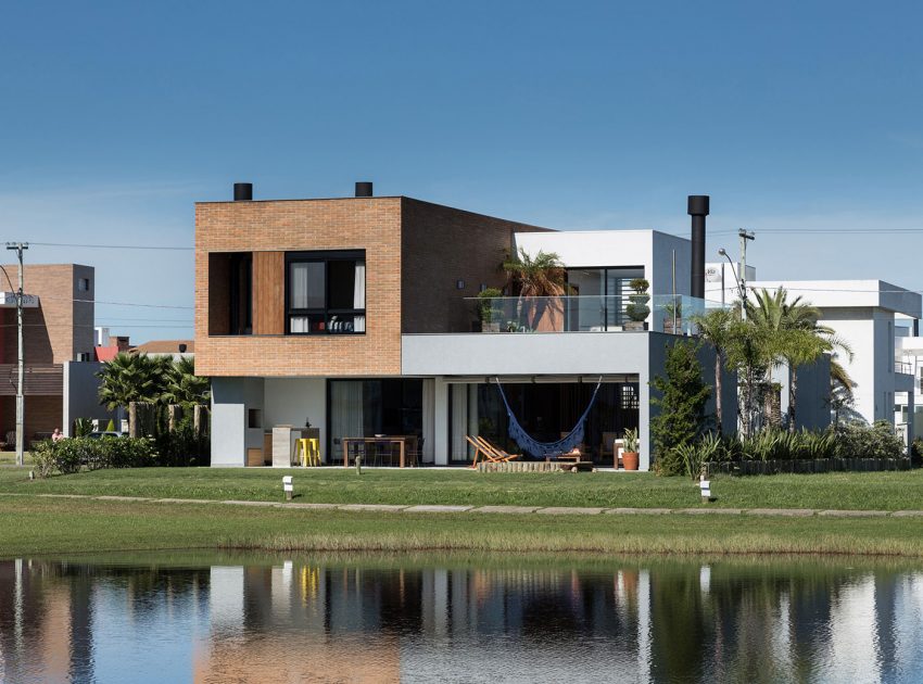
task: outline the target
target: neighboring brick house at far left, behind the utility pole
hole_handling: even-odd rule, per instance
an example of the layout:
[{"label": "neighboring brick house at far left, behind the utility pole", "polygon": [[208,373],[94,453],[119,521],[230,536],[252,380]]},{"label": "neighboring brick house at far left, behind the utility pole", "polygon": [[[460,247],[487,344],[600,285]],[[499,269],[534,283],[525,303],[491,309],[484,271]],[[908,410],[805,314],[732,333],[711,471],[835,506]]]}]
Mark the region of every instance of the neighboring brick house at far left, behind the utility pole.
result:
[{"label": "neighboring brick house at far left, behind the utility pole", "polygon": [[[15,295],[18,267],[4,266],[0,275],[8,294],[0,306],[0,440],[9,442],[16,426],[17,335]],[[77,362],[93,358],[94,271],[78,264],[27,264],[24,290],[37,305],[24,308],[25,442],[50,434],[54,428],[69,430],[71,409],[85,404],[88,368]],[[29,297],[29,299],[31,299]],[[85,378],[86,376],[86,378]],[[90,380],[88,380],[89,378]],[[73,388],[74,397],[65,401]],[[76,417],[76,416],[75,416]],[[8,448],[11,445],[8,444]]]}]

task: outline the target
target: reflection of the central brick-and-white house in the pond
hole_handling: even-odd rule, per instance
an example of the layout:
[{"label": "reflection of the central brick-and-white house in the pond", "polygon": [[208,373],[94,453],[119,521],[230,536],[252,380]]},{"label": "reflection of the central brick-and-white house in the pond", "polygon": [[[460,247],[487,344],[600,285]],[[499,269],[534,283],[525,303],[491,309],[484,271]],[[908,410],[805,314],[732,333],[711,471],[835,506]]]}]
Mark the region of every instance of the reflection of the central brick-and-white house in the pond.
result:
[{"label": "reflection of the central brick-and-white house in the pond", "polygon": [[570,570],[213,568],[212,626],[197,650],[195,679],[388,682],[465,673],[479,681],[510,666],[510,644],[548,674],[568,662],[583,667],[594,650],[618,672],[635,672],[637,623],[614,607],[636,606],[636,581],[586,582]]}]

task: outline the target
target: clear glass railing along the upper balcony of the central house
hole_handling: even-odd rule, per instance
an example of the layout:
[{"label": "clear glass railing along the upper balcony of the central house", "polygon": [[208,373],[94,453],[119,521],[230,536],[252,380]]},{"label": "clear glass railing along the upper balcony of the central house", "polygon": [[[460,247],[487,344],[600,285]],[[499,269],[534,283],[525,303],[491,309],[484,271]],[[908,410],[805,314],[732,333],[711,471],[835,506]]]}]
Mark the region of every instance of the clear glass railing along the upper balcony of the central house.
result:
[{"label": "clear glass railing along the upper balcony of the central house", "polygon": [[722,304],[686,295],[466,297],[479,332],[623,332],[694,334],[693,317]]}]

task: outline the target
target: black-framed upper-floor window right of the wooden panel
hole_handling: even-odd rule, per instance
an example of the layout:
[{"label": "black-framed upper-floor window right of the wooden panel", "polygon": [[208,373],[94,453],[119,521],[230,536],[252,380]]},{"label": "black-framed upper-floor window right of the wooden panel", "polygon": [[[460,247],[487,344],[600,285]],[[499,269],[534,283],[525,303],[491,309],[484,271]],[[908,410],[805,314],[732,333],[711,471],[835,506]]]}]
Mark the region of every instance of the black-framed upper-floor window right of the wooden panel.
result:
[{"label": "black-framed upper-floor window right of the wooden panel", "polygon": [[298,252],[286,263],[289,333],[365,332],[364,252]]}]

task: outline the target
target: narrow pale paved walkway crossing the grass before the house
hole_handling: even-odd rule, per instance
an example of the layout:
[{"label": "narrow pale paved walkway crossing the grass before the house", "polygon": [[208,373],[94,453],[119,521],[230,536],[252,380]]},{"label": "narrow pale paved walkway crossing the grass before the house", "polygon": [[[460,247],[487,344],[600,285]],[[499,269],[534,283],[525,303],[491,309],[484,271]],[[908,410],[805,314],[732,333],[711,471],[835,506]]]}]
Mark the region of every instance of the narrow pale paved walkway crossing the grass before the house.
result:
[{"label": "narrow pale paved walkway crossing the grass before the house", "polygon": [[540,514],[546,516],[775,516],[781,518],[923,518],[923,510],[824,510],[820,508],[598,508],[558,506],[439,506],[394,504],[308,504],[298,502],[245,502],[210,498],[150,498],[144,496],[92,496],[89,494],[20,494],[2,493],[0,496],[38,496],[45,498],[85,498],[98,502],[143,502],[149,504],[201,504],[224,506],[256,506],[262,508],[291,508],[295,510],[353,510],[410,514],[493,514],[504,516]]}]

